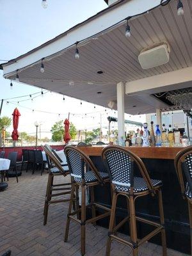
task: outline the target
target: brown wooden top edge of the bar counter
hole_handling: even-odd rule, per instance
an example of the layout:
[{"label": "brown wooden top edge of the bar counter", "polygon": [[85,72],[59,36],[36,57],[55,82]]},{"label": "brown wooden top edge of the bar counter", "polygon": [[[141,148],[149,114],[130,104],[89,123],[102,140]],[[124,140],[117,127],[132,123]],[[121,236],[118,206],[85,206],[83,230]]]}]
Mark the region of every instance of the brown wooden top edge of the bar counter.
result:
[{"label": "brown wooden top edge of the bar counter", "polygon": [[[100,156],[103,146],[78,147],[88,156]],[[175,159],[183,147],[125,147],[141,158]]]}]

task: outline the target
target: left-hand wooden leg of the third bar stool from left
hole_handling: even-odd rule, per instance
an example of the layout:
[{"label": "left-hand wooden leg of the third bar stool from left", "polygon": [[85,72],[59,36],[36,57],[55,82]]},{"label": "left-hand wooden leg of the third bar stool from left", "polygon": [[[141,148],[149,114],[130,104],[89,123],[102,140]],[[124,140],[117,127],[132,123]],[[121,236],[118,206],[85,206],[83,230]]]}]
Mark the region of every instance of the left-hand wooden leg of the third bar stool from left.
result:
[{"label": "left-hand wooden leg of the third bar stool from left", "polygon": [[111,216],[109,221],[109,232],[108,232],[108,242],[106,246],[106,256],[110,255],[111,250],[111,233],[113,232],[113,227],[115,223],[115,210],[116,210],[116,193],[113,193],[113,200],[111,206]]}]

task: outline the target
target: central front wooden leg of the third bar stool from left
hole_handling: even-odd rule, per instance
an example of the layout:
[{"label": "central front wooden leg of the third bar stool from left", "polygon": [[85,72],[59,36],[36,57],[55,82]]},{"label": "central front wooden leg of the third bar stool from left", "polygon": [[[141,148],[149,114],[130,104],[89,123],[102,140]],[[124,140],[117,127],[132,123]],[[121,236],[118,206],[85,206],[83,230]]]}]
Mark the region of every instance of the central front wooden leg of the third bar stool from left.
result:
[{"label": "central front wooden leg of the third bar stool from left", "polygon": [[133,245],[133,255],[138,256],[138,236],[136,227],[136,215],[134,207],[134,197],[130,196],[129,199],[129,212],[130,212],[130,224],[131,224],[131,243]]}]

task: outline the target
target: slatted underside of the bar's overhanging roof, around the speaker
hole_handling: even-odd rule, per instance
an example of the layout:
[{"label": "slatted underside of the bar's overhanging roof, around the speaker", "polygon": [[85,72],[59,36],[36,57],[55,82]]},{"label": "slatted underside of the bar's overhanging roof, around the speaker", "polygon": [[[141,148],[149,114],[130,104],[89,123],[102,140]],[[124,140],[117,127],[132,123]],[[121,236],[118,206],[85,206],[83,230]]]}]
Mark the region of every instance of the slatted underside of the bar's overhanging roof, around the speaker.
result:
[{"label": "slatted underside of the bar's overhanging roof, around the speaker", "polygon": [[[29,53],[24,58],[31,58],[31,65],[20,68],[19,80],[104,107],[109,101],[116,101],[116,83],[123,81],[127,82],[125,113],[153,113],[157,108],[167,108],[167,104],[151,94],[191,87],[192,1],[183,0],[183,4],[183,16],[177,15],[177,1],[171,1],[167,6],[132,19],[130,38],[125,37],[124,23],[79,44],[79,60],[74,58],[75,47],[44,60],[44,73],[40,72],[40,61],[33,64]],[[81,27],[79,29],[81,31]],[[143,70],[138,62],[140,51],[163,41],[170,45],[170,61]],[[16,64],[19,65],[19,61]],[[10,70],[9,65],[4,66],[4,77],[15,79],[16,73]],[[104,73],[97,74],[99,70]]]}]

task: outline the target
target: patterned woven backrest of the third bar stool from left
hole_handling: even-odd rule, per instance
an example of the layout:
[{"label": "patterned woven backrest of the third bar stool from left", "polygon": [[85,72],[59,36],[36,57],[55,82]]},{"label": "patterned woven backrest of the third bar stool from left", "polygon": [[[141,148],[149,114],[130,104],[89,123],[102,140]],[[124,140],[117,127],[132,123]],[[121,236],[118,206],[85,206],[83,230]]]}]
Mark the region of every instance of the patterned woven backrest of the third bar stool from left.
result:
[{"label": "patterned woven backrest of the third bar stool from left", "polygon": [[105,153],[106,166],[112,184],[117,186],[133,186],[133,161],[131,157],[118,149]]}]

